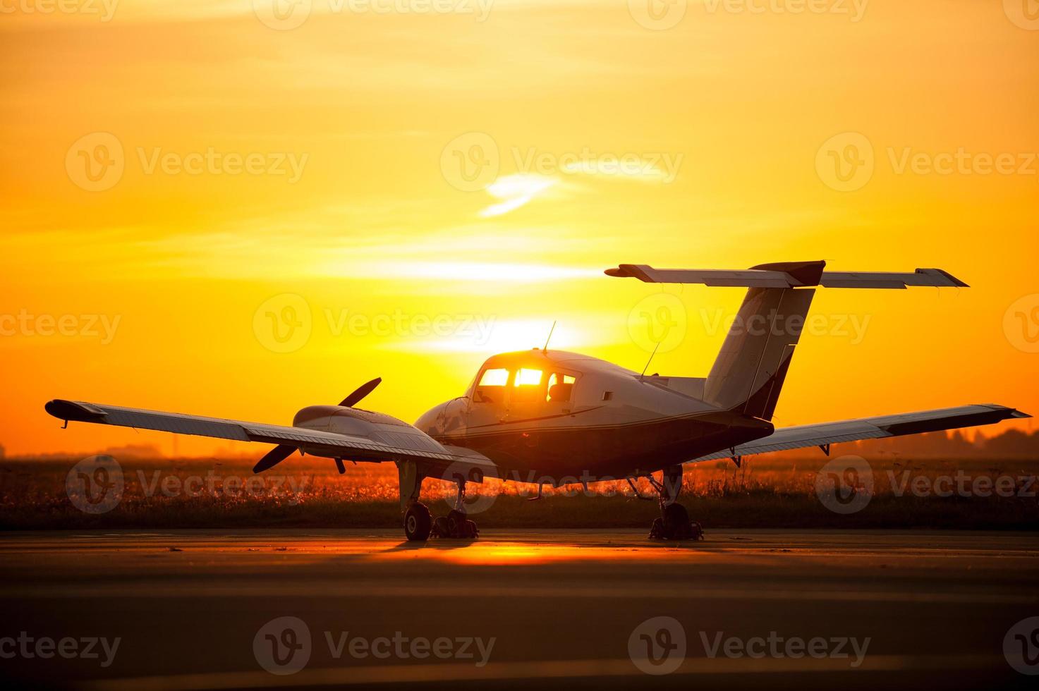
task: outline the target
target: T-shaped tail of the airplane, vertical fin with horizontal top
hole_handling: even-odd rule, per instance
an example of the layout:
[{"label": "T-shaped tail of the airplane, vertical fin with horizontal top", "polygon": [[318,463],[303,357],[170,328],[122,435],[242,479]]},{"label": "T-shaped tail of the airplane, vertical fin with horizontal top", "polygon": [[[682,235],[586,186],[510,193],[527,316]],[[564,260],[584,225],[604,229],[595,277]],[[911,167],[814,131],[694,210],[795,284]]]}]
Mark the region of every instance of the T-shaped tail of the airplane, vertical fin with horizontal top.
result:
[{"label": "T-shaped tail of the airplane, vertical fin with horizontal top", "polygon": [[816,288],[967,287],[941,269],[887,273],[825,271],[825,267],[824,261],[761,264],[741,271],[621,264],[606,273],[645,283],[749,288],[704,381],[703,400],[726,410],[771,420]]}]

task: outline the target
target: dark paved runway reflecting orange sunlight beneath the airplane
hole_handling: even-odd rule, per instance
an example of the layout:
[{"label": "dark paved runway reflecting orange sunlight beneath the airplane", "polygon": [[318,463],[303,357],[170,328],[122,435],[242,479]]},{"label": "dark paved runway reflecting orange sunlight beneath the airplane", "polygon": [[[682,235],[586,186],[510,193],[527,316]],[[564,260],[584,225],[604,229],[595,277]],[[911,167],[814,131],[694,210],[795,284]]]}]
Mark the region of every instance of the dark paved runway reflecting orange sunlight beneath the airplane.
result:
[{"label": "dark paved runway reflecting orange sunlight beneath the airplane", "polygon": [[1037,577],[1039,540],[1011,533],[9,533],[0,669],[100,689],[1024,688],[1004,641],[1039,616]]}]

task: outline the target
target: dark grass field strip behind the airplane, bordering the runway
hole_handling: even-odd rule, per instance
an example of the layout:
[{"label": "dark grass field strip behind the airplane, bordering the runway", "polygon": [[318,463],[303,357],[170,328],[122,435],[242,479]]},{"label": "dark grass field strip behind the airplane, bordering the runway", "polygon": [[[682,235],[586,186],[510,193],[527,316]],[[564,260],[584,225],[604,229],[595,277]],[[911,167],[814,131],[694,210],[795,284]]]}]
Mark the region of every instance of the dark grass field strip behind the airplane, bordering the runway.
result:
[{"label": "dark grass field strip behind the airplane, bordering the runway", "polygon": [[[293,457],[263,476],[252,460],[124,460],[106,477],[117,503],[77,508],[86,476],[70,471],[77,459],[10,459],[0,462],[0,527],[244,528],[390,527],[400,521],[396,469],[362,463],[339,475],[330,460]],[[1034,479],[1039,461],[870,460],[872,491],[861,477],[850,484],[869,494],[854,513],[837,513],[820,500],[816,480],[828,459],[761,456],[737,469],[730,461],[687,466],[683,503],[704,528],[1039,528]],[[115,497],[116,477],[122,491]],[[944,481],[938,481],[945,478]],[[957,478],[962,481],[957,487]],[[938,484],[935,485],[935,481]],[[68,487],[72,487],[72,491]],[[642,494],[651,494],[640,483]],[[452,485],[427,479],[423,500],[446,513]],[[104,494],[104,493],[101,493]],[[544,498],[532,484],[488,480],[470,484],[473,517],[482,527],[647,529],[658,514],[654,501],[636,498],[627,482],[552,489]],[[939,496],[950,495],[950,496]],[[854,496],[853,496],[854,497]],[[471,512],[474,510],[471,509]]]}]

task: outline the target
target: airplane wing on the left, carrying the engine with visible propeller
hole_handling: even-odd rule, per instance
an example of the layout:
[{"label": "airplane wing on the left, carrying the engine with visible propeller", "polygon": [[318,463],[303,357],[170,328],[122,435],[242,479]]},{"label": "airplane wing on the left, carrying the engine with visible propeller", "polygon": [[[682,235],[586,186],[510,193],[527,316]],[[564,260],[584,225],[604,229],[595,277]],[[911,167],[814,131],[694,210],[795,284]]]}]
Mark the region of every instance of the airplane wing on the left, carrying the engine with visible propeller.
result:
[{"label": "airplane wing on the left, carrying the engine with visible propeller", "polygon": [[439,475],[450,468],[458,472],[479,470],[481,475],[496,477],[498,470],[486,456],[470,449],[444,446],[406,424],[394,425],[390,429],[373,429],[369,436],[356,436],[304,427],[205,418],[62,399],[48,402],[45,409],[58,420],[66,422],[91,422],[136,429],[155,429],[236,442],[284,444],[314,456],[328,458],[372,462],[414,460],[429,476]]}]

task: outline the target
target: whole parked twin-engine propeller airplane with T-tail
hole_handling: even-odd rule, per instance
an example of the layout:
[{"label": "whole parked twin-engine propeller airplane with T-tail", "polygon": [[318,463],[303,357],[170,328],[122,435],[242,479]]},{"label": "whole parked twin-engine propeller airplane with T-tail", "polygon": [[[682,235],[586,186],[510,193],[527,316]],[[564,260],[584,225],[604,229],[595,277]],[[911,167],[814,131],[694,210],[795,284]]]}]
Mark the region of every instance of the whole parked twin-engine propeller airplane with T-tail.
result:
[{"label": "whole parked twin-engine propeller airplane with T-tail", "polygon": [[[356,407],[381,381],[361,386],[338,405],[299,410],[292,426],[222,420],[54,399],[51,416],[70,421],[274,444],[254,473],[297,450],[335,460],[394,462],[408,540],[474,539],[465,486],[487,477],[562,486],[646,478],[661,514],[649,537],[702,537],[678,503],[685,463],[788,449],[900,436],[1031,416],[995,404],[962,405],[874,418],[776,428],[773,411],[816,290],[905,289],[967,285],[941,269],[913,272],[826,271],[824,261],[762,264],[746,270],[657,269],[621,264],[605,273],[651,284],[744,287],[746,295],[707,377],[645,376],[563,350],[534,348],[492,355],[465,392],[410,425]],[[660,479],[654,475],[660,474]],[[433,519],[420,501],[425,478],[457,486],[454,508]],[[526,480],[524,479],[526,478]],[[639,495],[641,496],[641,495]]]}]

